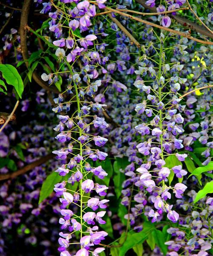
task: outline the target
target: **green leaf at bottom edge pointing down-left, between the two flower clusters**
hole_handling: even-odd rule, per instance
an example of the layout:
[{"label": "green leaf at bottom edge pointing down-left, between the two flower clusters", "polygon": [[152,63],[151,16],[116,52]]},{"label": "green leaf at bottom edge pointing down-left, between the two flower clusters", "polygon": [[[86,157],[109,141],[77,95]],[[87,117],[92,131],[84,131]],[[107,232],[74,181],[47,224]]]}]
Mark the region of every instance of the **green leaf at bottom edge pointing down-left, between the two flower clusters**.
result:
[{"label": "green leaf at bottom edge pointing down-left, between the two flower clusters", "polygon": [[125,253],[138,244],[142,244],[147,238],[150,232],[155,229],[155,226],[150,222],[144,222],[144,229],[141,232],[128,232],[127,239],[120,248],[119,256],[124,256]]}]

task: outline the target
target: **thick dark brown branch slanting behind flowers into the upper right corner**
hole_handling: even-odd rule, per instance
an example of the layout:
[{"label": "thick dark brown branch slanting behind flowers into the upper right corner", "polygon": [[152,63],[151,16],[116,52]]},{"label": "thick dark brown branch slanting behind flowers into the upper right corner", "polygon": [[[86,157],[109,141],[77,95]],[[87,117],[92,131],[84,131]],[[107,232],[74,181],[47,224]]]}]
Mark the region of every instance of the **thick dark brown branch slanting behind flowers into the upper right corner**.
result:
[{"label": "thick dark brown branch slanting behind flowers into the upper right corner", "polygon": [[[145,0],[136,0],[136,2],[140,3],[142,6],[144,6],[144,8],[149,9],[151,12],[156,12],[156,8],[147,6],[145,3],[146,2]],[[178,23],[180,23],[187,29],[195,30],[196,32],[200,33],[201,35],[205,35],[209,38],[213,38],[213,35],[207,29],[205,29],[203,26],[199,26],[196,23],[194,23],[193,21],[188,20],[184,17],[181,17],[180,15],[169,15],[169,16],[172,17],[173,19],[175,19]]]}]

